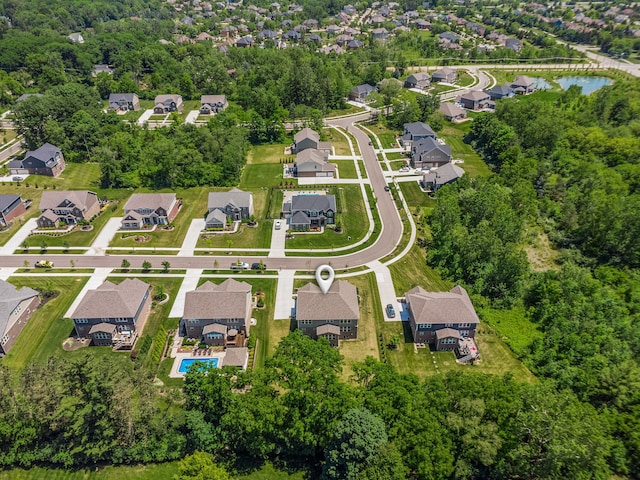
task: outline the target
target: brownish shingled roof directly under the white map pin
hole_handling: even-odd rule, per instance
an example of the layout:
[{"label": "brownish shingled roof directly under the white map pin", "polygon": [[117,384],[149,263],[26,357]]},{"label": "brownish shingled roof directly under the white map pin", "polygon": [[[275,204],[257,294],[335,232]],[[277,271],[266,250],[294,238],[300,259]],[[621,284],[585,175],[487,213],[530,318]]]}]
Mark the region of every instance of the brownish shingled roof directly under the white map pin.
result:
[{"label": "brownish shingled roof directly under the white map pin", "polygon": [[298,289],[297,320],[358,320],[358,293],[346,280],[333,282],[326,294],[315,283]]}]

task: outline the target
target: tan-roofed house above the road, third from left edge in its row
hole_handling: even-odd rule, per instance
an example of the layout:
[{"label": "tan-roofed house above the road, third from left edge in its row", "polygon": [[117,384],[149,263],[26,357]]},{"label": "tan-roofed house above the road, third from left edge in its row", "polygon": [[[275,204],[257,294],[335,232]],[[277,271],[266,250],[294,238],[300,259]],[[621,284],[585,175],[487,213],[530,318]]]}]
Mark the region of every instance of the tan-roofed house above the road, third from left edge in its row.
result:
[{"label": "tan-roofed house above the road, third from left edge in its row", "polygon": [[175,193],[134,193],[124,205],[122,228],[167,225],[176,217],[180,206]]}]

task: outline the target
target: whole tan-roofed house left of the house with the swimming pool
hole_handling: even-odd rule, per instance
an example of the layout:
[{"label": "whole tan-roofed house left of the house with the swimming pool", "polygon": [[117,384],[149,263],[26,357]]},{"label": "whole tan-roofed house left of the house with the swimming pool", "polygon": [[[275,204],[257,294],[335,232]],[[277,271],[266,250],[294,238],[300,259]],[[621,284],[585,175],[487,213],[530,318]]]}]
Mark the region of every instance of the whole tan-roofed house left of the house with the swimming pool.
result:
[{"label": "whole tan-roofed house left of the house with the swimming pool", "polygon": [[92,345],[130,349],[151,309],[151,285],[127,278],[116,285],[105,281],[89,290],[71,314],[76,336]]}]

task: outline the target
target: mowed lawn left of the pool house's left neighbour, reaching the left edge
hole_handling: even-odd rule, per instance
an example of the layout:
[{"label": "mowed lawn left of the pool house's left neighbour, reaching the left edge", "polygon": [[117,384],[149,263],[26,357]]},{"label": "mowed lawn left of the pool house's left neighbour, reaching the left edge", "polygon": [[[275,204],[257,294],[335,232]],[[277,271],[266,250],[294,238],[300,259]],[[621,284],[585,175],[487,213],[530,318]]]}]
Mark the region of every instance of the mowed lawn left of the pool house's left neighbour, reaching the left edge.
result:
[{"label": "mowed lawn left of the pool house's left neighbour, reaching the left edge", "polygon": [[75,300],[89,277],[12,277],[13,285],[34,289],[48,286],[60,294],[36,310],[13,347],[2,360],[9,368],[22,370],[30,361],[44,361],[72,334],[73,322],[63,316]]}]

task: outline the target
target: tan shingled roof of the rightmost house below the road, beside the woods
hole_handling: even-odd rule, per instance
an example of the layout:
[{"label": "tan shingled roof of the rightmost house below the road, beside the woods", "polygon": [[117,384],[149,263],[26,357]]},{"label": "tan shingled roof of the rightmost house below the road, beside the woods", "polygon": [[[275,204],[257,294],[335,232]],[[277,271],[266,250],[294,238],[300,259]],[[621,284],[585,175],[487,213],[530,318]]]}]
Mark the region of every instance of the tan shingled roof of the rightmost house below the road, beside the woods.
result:
[{"label": "tan shingled roof of the rightmost house below the road, beside the woods", "polygon": [[427,292],[422,287],[415,287],[405,294],[405,298],[416,323],[480,323],[469,295],[459,285],[449,292]]}]

